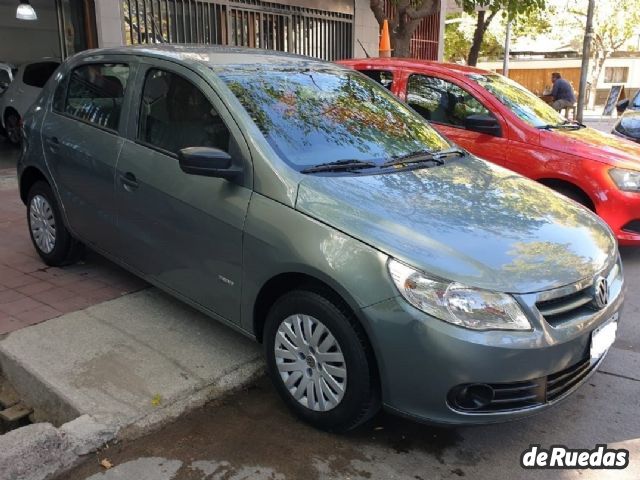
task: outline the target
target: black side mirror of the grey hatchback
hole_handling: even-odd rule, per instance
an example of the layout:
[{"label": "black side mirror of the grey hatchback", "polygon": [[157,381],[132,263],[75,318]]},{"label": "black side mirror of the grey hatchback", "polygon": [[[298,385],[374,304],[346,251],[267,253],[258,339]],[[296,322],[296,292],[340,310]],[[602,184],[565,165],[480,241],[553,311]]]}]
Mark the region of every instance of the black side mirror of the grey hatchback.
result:
[{"label": "black side mirror of the grey hatchback", "polygon": [[183,148],[178,152],[178,162],[182,171],[190,175],[233,180],[242,174],[241,168],[233,166],[231,155],[218,148]]}]

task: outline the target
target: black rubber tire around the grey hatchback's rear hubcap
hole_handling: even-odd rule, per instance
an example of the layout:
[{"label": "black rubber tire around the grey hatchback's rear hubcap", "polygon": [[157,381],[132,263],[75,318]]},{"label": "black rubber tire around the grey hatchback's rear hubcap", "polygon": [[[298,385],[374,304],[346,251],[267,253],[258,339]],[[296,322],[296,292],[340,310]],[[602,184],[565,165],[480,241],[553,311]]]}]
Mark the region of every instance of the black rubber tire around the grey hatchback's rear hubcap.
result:
[{"label": "black rubber tire around the grey hatchback's rear hubcap", "polygon": [[[44,199],[50,206],[50,211],[46,210],[47,213],[43,215],[39,215],[37,212],[32,215],[32,210],[37,210],[37,204],[39,202],[36,197]],[[36,199],[35,203],[34,199]],[[49,220],[53,220],[55,238],[52,242],[53,248],[50,251],[43,249],[38,244],[34,236],[34,230],[36,230],[34,225],[35,222],[38,221],[34,217],[37,218],[39,216],[46,216]],[[73,263],[77,260],[80,252],[82,251],[82,245],[71,236],[65,227],[55,195],[53,194],[49,184],[44,181],[34,183],[29,190],[29,195],[27,197],[27,228],[29,228],[31,242],[36,249],[36,252],[38,252],[38,255],[40,255],[40,258],[42,258],[44,263],[49,266],[60,267]]]}]

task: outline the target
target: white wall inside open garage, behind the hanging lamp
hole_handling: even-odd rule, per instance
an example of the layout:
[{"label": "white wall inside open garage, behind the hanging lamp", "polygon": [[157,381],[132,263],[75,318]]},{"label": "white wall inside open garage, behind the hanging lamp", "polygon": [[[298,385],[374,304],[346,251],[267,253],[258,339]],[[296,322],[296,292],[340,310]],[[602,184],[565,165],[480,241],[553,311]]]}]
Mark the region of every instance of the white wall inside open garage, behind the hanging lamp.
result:
[{"label": "white wall inside open garage, behind the hanging lamp", "polygon": [[0,61],[19,65],[43,57],[60,57],[53,0],[31,0],[31,5],[38,20],[18,20],[18,2],[0,0]]}]

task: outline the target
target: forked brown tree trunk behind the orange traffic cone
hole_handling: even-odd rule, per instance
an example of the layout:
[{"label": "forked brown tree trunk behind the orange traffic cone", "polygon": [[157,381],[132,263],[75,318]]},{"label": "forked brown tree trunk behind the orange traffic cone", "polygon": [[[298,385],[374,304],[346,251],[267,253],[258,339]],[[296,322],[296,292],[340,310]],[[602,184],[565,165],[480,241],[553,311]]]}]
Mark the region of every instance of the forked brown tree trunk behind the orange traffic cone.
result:
[{"label": "forked brown tree trunk behind the orange traffic cone", "polygon": [[370,0],[371,10],[380,25],[389,21],[389,35],[394,57],[408,57],[411,50],[411,37],[422,19],[436,13],[440,0],[391,0],[396,14],[389,18],[385,11],[384,0]]}]

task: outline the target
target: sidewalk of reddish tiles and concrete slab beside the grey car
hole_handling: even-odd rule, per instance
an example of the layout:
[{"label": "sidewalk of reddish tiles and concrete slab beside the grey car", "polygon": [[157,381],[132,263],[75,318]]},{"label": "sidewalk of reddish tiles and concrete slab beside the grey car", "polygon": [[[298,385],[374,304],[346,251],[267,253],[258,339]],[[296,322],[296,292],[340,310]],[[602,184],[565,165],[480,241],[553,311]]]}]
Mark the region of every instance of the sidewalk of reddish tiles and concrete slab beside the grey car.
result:
[{"label": "sidewalk of reddish tiles and concrete slab beside the grey car", "polygon": [[0,435],[1,479],[52,478],[262,373],[259,345],[97,254],[46,267],[25,217],[0,178],[0,374],[42,422]]}]

